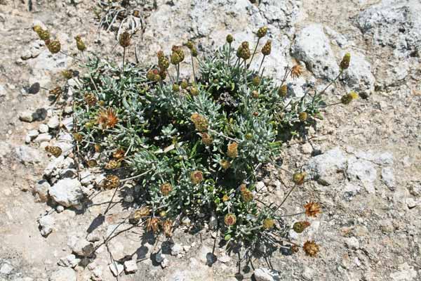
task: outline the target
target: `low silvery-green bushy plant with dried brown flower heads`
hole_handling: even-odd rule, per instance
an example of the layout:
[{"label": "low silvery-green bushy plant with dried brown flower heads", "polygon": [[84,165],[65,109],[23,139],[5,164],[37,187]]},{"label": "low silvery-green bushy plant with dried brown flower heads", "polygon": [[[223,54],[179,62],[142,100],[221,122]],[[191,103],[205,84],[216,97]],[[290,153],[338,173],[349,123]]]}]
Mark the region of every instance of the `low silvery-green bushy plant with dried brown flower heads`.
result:
[{"label": "low silvery-green bushy plant with dried brown flower heads", "polygon": [[[41,27],[35,31],[46,37]],[[261,49],[259,41],[266,33],[266,27],[258,30],[258,43],[251,50],[248,41],[234,48],[228,35],[224,46],[201,58],[188,41],[173,46],[168,55],[159,51],[152,66],[96,56],[82,65],[85,74],[74,78],[76,146],[86,166],[98,164],[107,172],[99,188],[119,188],[124,181],[141,186],[133,223],[171,237],[188,216],[196,228],[205,222],[217,228],[229,249],[244,247],[247,256],[279,245],[299,249],[288,233],[302,233],[309,222],[290,226],[288,218],[294,214],[288,214],[284,204],[307,175],[290,173],[293,186],[286,197],[269,204],[256,186],[257,171],[264,164],[283,169],[276,162],[283,143],[305,137],[322,118],[328,107],[326,89],[347,70],[350,56],[342,59],[340,74],[326,89],[308,89],[295,97],[288,79],[304,70],[288,66],[281,81],[265,75],[262,65],[271,55],[272,41]],[[48,48],[57,51],[49,36],[46,40]],[[76,39],[78,48],[82,43]],[[123,32],[119,44],[126,53],[131,34]],[[181,77],[187,55],[192,76]],[[250,67],[253,59],[260,60],[257,70]],[[346,105],[356,97],[349,93],[338,103]],[[300,214],[308,217],[321,213],[319,202],[305,202],[302,208]],[[319,251],[312,241],[302,247],[309,256]]]}]

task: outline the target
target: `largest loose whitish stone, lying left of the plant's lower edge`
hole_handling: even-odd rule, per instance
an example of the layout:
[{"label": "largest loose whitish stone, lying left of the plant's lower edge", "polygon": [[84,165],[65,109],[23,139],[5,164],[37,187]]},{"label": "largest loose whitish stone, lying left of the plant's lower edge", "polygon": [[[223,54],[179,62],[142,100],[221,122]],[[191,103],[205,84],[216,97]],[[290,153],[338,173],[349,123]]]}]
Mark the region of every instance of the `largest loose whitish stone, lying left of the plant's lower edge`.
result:
[{"label": "largest loose whitish stone, lying left of the plant's lower edge", "polygon": [[76,178],[65,178],[53,185],[48,193],[55,202],[65,207],[79,205],[83,198],[81,183]]}]

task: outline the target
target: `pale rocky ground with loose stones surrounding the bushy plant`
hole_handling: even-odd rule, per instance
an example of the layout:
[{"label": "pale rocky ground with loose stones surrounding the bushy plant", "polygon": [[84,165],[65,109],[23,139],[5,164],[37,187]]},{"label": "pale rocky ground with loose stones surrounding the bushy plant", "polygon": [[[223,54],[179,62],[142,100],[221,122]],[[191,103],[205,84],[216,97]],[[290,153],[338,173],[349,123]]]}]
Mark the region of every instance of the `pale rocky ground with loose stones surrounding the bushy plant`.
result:
[{"label": "pale rocky ground with loose stones surrounding the bushy plant", "polygon": [[[298,242],[320,244],[319,257],[276,251],[270,259],[241,263],[241,275],[235,275],[238,256],[214,247],[218,233],[192,234],[187,218],[173,243],[133,228],[102,244],[131,226],[125,219],[139,187],[127,183],[114,195],[93,188],[100,171],[83,170],[78,179],[68,133],[72,107],[48,100],[48,89],[65,84],[60,71],[83,60],[72,55],[76,34],[89,51],[122,55],[115,31],[100,29],[98,36],[89,2],[0,1],[0,280],[421,279],[420,0],[157,0],[140,6],[142,30],[134,39],[140,62],[154,62],[156,51],[168,53],[187,39],[202,52],[228,33],[236,42],[251,41],[267,25],[274,45],[267,72],[281,77],[285,65],[301,62],[307,72],[289,85],[300,96],[308,84],[326,86],[342,55],[352,53],[328,100],[349,90],[361,98],[328,108],[314,138],[293,141],[280,155],[286,169],[305,169],[314,178],[288,199],[287,209],[298,212],[314,198],[323,203],[323,214],[303,235],[291,232]],[[70,56],[49,55],[34,24],[48,27]],[[49,144],[60,145],[63,155],[49,158]],[[261,174],[271,200],[282,200],[288,175],[273,166]],[[87,257],[94,247],[96,256]]]}]

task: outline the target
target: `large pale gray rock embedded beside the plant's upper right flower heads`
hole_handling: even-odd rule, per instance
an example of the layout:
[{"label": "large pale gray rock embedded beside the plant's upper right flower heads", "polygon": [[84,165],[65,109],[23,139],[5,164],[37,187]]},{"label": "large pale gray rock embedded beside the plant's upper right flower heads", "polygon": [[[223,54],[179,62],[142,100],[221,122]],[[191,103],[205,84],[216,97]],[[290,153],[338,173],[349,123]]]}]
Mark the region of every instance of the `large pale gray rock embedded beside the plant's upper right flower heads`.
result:
[{"label": "large pale gray rock embedded beside the plant's upper right flower heads", "polygon": [[316,77],[332,80],[339,74],[338,62],[323,31],[323,25],[312,24],[302,28],[295,37],[292,53]]}]

